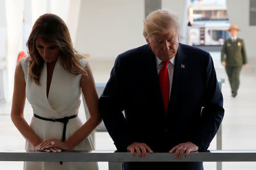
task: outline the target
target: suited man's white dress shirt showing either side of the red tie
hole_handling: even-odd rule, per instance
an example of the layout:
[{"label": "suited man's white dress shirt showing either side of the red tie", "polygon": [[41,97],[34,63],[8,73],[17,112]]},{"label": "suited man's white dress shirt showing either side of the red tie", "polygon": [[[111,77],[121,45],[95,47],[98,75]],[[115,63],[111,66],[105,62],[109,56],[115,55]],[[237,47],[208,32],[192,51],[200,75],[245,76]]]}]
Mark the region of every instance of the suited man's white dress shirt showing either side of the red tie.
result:
[{"label": "suited man's white dress shirt showing either side of the red tie", "polygon": [[[156,59],[156,68],[158,69],[158,74],[163,67],[162,60],[159,59],[157,56],[155,56]],[[170,80],[170,94],[169,94],[169,101],[170,101],[170,95],[172,90],[172,79],[174,77],[174,65],[175,65],[175,56],[172,59],[169,59],[170,63],[168,63],[167,70],[169,74],[169,80]]]}]

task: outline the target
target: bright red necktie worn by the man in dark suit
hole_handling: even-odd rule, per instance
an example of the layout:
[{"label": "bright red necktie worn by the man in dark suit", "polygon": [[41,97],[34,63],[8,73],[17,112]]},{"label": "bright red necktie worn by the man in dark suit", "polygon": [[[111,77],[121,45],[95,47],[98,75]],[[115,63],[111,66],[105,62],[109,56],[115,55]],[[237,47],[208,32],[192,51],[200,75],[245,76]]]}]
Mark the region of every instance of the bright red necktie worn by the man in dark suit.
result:
[{"label": "bright red necktie worn by the man in dark suit", "polygon": [[169,95],[170,95],[170,80],[169,74],[167,70],[168,63],[170,61],[162,61],[163,66],[159,72],[159,82],[162,91],[163,103],[164,103],[164,110],[168,111],[168,104],[169,104]]}]

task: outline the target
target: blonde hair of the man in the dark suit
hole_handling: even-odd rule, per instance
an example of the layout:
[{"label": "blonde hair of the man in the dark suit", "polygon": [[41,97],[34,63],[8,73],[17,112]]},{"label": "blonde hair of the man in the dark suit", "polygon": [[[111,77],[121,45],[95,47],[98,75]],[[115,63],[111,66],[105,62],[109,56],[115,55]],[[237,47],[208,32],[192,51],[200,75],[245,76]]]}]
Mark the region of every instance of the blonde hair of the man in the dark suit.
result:
[{"label": "blonde hair of the man in the dark suit", "polygon": [[168,10],[156,10],[144,20],[143,36],[148,39],[151,35],[163,35],[170,32],[170,27],[175,28],[179,36],[180,25],[177,16]]}]

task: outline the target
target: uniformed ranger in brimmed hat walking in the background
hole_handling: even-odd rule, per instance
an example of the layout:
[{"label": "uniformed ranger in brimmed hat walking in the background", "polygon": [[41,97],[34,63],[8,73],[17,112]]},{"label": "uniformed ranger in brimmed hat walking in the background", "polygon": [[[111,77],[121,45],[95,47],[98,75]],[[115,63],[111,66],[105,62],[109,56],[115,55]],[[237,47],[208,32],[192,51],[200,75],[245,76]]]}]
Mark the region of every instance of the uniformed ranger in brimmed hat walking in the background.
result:
[{"label": "uniformed ranger in brimmed hat walking in the background", "polygon": [[237,32],[240,29],[238,29],[236,24],[230,25],[227,31],[231,37],[225,40],[222,46],[221,64],[225,66],[226,73],[228,74],[232,96],[236,97],[240,84],[239,76],[242,66],[247,67],[245,43],[237,37]]}]

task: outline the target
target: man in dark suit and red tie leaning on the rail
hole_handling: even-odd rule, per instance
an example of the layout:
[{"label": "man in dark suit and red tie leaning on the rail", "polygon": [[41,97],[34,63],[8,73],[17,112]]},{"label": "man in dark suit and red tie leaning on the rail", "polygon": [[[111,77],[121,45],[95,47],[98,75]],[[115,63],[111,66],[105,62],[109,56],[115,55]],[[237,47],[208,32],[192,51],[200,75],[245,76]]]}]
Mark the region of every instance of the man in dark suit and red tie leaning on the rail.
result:
[{"label": "man in dark suit and red tie leaning on the rail", "polygon": [[[104,124],[118,151],[207,150],[224,116],[210,54],[179,43],[179,23],[166,10],[144,21],[147,45],[119,54],[100,97]],[[125,111],[125,117],[122,114]],[[124,163],[125,169],[203,169],[201,162]]]}]

